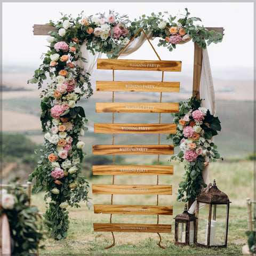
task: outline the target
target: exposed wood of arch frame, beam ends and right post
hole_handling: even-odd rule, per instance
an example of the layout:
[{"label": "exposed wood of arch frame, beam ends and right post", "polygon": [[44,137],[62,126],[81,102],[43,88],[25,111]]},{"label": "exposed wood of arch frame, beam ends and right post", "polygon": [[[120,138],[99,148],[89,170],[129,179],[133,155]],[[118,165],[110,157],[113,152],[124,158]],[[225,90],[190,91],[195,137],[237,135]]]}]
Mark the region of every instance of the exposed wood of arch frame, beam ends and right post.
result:
[{"label": "exposed wood of arch frame, beam ends and right post", "polygon": [[[223,27],[206,27],[208,30],[214,30],[215,32],[223,34]],[[49,36],[50,31],[57,31],[54,26],[51,25],[37,25],[33,26],[34,35],[40,36]],[[193,90],[192,95],[197,99],[200,99],[199,89],[200,89],[200,79],[201,79],[201,71],[202,71],[202,48],[198,47],[198,44],[194,44],[194,73],[193,73]],[[193,199],[189,199],[188,207],[193,203]]]}]

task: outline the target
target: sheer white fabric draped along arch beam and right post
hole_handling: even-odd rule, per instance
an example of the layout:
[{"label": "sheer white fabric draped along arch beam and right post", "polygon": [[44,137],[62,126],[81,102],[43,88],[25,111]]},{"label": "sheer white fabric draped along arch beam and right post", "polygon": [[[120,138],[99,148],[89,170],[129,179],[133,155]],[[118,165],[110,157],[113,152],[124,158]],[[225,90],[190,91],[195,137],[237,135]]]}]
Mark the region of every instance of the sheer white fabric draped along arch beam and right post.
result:
[{"label": "sheer white fabric draped along arch beam and right post", "polygon": [[[153,40],[152,33],[150,32],[147,35],[150,40]],[[119,57],[126,57],[127,55],[137,51],[140,46],[147,40],[146,36],[141,33],[141,35],[135,39],[126,47]],[[77,65],[83,67],[87,70],[88,73],[92,74],[93,68],[97,64],[98,58],[101,58],[101,53],[97,52],[93,55],[90,51],[86,50],[86,45],[83,44],[81,47],[82,57],[84,57],[87,62],[77,62]],[[210,60],[207,49],[202,50],[202,72],[201,72],[201,81],[199,89],[200,98],[203,99],[201,107],[209,109],[212,115],[216,114],[216,102],[215,102],[215,93],[212,81]],[[213,138],[212,138],[213,141]],[[205,162],[208,162],[209,158],[205,158]],[[209,185],[209,165],[205,166],[203,169],[203,179],[206,185]],[[200,205],[203,207],[204,205]],[[196,201],[189,208],[189,213],[195,213],[196,210]]]}]

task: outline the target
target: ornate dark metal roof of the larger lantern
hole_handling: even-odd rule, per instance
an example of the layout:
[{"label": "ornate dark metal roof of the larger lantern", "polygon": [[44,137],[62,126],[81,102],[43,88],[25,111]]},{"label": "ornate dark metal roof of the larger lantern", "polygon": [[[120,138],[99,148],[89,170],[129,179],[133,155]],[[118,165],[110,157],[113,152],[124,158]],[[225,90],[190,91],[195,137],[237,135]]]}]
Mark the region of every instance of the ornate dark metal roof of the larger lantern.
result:
[{"label": "ornate dark metal roof of the larger lantern", "polygon": [[[209,188],[211,186],[211,188]],[[198,203],[209,203],[209,204],[228,204],[228,196],[220,191],[216,185],[216,181],[213,181],[207,188],[205,188],[202,193],[196,198]]]}]

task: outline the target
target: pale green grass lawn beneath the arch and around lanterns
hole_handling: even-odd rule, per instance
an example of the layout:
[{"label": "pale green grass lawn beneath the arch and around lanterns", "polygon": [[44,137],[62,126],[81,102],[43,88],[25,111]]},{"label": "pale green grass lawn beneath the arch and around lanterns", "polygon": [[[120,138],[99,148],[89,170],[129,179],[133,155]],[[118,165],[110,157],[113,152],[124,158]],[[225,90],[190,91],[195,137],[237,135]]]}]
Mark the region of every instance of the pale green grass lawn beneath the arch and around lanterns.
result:
[{"label": "pale green grass lawn beneath the arch and around lanterns", "polygon": [[[159,205],[173,205],[173,216],[160,216],[159,224],[171,224],[170,234],[161,234],[161,244],[165,250],[157,246],[159,237],[155,233],[114,233],[116,245],[108,250],[104,247],[113,242],[110,232],[94,232],[94,222],[109,222],[110,214],[94,214],[93,206],[88,210],[84,203],[79,209],[68,209],[70,228],[68,237],[55,241],[45,236],[41,242],[44,246],[40,255],[242,255],[242,246],[246,243],[247,229],[245,198],[253,198],[253,162],[217,162],[210,165],[210,179],[217,180],[217,186],[225,192],[230,201],[228,246],[227,248],[205,249],[194,245],[174,245],[174,217],[182,212],[184,203],[176,201],[175,191],[182,179],[183,165],[173,163],[174,175],[159,176],[159,185],[173,185],[172,196],[159,196]],[[100,176],[90,180],[92,184],[111,184],[112,176]],[[115,184],[156,184],[156,176],[142,177],[136,175],[116,175]],[[90,191],[91,194],[91,191]],[[44,212],[43,194],[32,196],[32,204]],[[93,204],[110,204],[110,195],[92,195]],[[114,195],[113,204],[156,204],[156,196]],[[116,223],[156,223],[154,215],[122,215],[113,214],[112,222]]]}]

